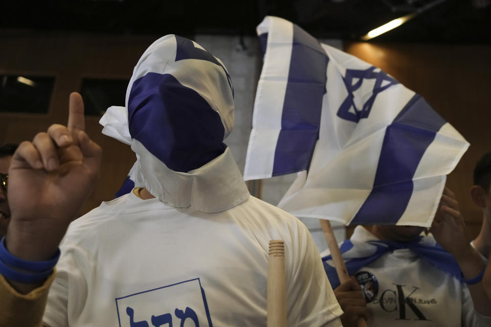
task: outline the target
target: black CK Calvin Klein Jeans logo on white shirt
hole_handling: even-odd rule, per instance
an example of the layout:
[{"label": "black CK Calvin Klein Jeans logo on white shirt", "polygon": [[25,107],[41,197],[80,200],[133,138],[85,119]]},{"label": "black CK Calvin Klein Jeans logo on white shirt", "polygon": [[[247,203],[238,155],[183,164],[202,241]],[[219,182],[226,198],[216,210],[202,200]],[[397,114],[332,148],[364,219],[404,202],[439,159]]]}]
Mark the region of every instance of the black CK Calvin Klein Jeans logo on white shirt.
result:
[{"label": "black CK Calvin Klein Jeans logo on white shirt", "polygon": [[395,320],[427,320],[423,312],[424,306],[435,305],[436,299],[422,299],[418,297],[419,287],[394,284],[395,289],[387,289],[380,297],[373,300],[373,304],[380,305],[385,312],[394,312]]}]

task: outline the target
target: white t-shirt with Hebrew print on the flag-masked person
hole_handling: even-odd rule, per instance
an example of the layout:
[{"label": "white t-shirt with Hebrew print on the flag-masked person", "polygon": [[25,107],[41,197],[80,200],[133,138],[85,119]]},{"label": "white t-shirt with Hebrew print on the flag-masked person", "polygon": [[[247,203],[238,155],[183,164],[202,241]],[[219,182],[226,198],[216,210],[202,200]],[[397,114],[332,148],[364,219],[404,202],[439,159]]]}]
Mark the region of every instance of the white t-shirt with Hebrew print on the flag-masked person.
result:
[{"label": "white t-shirt with Hebrew print on the flag-masked person", "polygon": [[254,197],[225,212],[133,193],[74,221],[43,322],[58,326],[265,326],[269,241],[285,241],[288,326],[341,326],[307,228]]}]

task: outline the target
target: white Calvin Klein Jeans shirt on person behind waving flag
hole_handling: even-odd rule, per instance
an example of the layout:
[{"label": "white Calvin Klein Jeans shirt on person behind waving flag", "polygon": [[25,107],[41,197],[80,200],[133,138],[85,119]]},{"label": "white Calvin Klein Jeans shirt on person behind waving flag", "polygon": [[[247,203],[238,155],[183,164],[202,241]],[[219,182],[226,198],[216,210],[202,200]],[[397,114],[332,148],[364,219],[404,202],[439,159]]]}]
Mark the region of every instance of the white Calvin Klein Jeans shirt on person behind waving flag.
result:
[{"label": "white Calvin Klein Jeans shirt on person behind waving flag", "polygon": [[[378,240],[362,226],[350,240]],[[324,251],[321,255],[328,255]],[[474,310],[465,284],[420,259],[409,249],[394,250],[360,269],[355,275],[371,299],[370,327],[491,326],[491,317]],[[363,285],[363,283],[365,283]]]}]

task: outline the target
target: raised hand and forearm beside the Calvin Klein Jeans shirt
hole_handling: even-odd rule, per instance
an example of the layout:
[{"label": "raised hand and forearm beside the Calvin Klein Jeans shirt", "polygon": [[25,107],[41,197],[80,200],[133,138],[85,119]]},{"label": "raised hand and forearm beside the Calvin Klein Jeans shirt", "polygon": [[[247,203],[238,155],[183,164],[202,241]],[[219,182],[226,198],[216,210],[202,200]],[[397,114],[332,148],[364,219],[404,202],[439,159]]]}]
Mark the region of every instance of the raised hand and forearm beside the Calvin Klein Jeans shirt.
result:
[{"label": "raised hand and forearm beside the Calvin Klein Jeans shirt", "polygon": [[484,262],[479,252],[471,246],[464,235],[465,224],[459,211],[455,194],[445,188],[441,198],[439,214],[435,216],[431,232],[436,241],[450,252],[462,270],[467,287],[471,292],[474,309],[482,316],[491,316],[491,298],[486,294],[482,279],[479,278]]}]

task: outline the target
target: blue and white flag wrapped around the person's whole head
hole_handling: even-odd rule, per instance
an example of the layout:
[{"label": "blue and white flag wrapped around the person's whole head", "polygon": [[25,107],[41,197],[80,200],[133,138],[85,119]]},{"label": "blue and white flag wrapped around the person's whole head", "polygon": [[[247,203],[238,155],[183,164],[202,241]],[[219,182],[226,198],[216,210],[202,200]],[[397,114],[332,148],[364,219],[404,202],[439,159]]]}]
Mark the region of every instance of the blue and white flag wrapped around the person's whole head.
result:
[{"label": "blue and white flag wrapped around the person's whole head", "polygon": [[[151,44],[133,69],[125,104],[108,108],[100,120],[104,134],[137,155],[118,195],[143,186],[161,201],[189,207],[192,199],[179,191],[192,189],[206,169],[210,175],[203,166],[215,158],[233,161],[223,143],[234,126],[232,82],[225,65],[196,42],[166,35]],[[221,165],[215,180],[240,174],[236,165]]]}]

